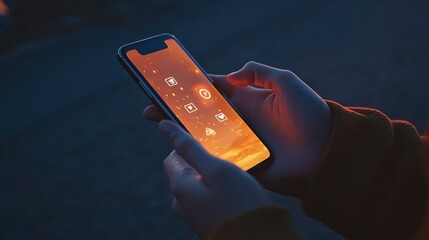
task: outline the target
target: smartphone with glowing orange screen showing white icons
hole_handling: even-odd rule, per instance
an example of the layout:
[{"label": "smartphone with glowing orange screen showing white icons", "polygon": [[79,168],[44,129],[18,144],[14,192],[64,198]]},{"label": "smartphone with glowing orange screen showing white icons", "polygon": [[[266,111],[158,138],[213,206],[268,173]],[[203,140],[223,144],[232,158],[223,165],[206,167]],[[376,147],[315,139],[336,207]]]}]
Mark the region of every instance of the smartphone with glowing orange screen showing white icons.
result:
[{"label": "smartphone with glowing orange screen showing white icons", "polygon": [[118,59],[151,101],[212,155],[250,170],[270,151],[171,34],[127,44]]}]

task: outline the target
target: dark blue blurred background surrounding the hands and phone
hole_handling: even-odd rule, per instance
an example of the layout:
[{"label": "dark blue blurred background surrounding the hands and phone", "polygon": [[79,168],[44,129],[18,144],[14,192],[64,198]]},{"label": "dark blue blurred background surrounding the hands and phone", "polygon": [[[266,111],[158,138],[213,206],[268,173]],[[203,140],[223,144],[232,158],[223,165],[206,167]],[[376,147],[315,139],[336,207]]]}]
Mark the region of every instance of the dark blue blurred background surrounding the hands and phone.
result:
[{"label": "dark blue blurred background surrounding the hands and phone", "polygon": [[[192,239],[171,147],[119,46],[175,34],[208,72],[249,60],[322,97],[429,119],[429,1],[0,0],[0,239]],[[304,239],[342,239],[287,206]],[[404,206],[406,207],[406,206]]]}]

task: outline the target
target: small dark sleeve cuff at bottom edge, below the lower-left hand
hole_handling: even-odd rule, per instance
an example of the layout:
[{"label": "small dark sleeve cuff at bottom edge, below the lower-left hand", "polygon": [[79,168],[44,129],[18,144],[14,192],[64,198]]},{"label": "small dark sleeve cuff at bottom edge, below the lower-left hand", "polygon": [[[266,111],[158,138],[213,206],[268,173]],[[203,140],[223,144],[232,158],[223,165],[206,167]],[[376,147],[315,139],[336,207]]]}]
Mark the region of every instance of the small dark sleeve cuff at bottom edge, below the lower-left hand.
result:
[{"label": "small dark sleeve cuff at bottom edge, below the lower-left hand", "polygon": [[289,221],[287,210],[268,206],[257,208],[222,222],[209,240],[296,240],[300,239]]}]

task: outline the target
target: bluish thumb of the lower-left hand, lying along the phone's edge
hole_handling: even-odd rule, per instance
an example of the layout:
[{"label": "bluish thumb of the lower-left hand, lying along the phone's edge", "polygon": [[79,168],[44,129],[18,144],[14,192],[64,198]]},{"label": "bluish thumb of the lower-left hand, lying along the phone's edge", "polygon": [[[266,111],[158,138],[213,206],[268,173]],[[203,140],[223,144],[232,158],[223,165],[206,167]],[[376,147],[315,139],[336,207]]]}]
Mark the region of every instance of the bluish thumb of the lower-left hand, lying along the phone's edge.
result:
[{"label": "bluish thumb of the lower-left hand, lying along the phone's edge", "polygon": [[169,120],[162,120],[159,129],[176,152],[201,175],[216,168],[220,161],[211,156],[189,133]]}]

